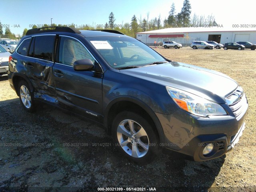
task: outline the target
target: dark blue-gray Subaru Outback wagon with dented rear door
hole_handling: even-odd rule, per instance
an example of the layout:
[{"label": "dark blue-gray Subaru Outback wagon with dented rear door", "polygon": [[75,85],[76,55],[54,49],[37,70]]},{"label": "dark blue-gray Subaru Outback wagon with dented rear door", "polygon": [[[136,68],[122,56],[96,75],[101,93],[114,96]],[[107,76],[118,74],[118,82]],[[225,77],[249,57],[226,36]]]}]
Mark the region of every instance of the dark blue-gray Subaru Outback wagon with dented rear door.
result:
[{"label": "dark blue-gray Subaru Outback wagon with dented rear door", "polygon": [[26,111],[41,101],[90,118],[142,164],[161,148],[218,158],[238,142],[248,112],[230,77],[170,61],[114,30],[28,30],[9,58],[8,79]]}]

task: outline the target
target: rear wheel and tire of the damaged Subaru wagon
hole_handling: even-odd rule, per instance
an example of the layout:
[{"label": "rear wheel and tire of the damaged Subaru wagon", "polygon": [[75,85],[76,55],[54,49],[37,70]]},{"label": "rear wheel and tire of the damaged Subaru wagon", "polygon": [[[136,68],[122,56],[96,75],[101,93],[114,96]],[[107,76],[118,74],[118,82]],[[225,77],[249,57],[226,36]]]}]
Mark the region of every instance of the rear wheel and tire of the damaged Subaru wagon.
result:
[{"label": "rear wheel and tire of the damaged Subaru wagon", "polygon": [[28,112],[34,112],[36,110],[34,94],[30,90],[30,87],[26,81],[20,81],[17,92],[19,94],[22,107]]}]

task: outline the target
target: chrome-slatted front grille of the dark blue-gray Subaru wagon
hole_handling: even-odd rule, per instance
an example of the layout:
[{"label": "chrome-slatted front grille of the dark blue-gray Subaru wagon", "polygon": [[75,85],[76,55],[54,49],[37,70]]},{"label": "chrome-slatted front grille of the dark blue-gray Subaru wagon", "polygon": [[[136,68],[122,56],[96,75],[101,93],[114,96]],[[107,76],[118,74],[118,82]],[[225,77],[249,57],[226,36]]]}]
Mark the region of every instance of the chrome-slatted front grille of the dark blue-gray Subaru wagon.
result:
[{"label": "chrome-slatted front grille of the dark blue-gray Subaru wagon", "polygon": [[233,94],[228,96],[226,98],[226,101],[228,103],[228,106],[234,113],[236,119],[240,120],[240,118],[244,115],[244,112],[248,108],[247,99],[242,88],[239,88]]}]

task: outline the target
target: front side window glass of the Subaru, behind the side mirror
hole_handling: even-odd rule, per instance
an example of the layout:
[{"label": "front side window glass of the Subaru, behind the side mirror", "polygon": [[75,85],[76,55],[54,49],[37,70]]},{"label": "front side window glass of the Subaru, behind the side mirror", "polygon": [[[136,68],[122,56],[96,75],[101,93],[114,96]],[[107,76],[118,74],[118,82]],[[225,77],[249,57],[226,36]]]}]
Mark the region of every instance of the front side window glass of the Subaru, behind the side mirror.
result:
[{"label": "front side window glass of the Subaru, behind the side mirror", "polygon": [[58,63],[73,66],[74,62],[81,59],[90,59],[93,63],[94,58],[77,40],[69,37],[61,37]]}]

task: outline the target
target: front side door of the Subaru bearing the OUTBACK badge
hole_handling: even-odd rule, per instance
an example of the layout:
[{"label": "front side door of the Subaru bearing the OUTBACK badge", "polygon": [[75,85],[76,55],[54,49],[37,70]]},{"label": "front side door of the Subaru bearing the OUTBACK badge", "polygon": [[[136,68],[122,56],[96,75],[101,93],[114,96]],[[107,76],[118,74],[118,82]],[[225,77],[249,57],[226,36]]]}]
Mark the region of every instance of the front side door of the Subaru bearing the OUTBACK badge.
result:
[{"label": "front side door of the Subaru bearing the OUTBACK badge", "polygon": [[59,36],[53,66],[58,103],[62,108],[100,121],[103,73],[94,70],[75,71],[74,62],[81,59],[90,59],[94,65],[98,65],[82,42],[76,38]]}]

